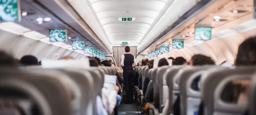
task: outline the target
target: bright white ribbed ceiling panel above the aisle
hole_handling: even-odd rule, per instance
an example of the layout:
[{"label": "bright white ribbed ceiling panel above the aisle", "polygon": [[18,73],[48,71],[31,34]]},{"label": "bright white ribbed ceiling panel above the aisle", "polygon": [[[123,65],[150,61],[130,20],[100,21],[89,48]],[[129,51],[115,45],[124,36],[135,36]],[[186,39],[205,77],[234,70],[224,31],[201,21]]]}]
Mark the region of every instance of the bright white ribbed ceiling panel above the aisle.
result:
[{"label": "bright white ribbed ceiling panel above the aisle", "polygon": [[[90,0],[111,44],[140,44],[168,0]],[[132,18],[132,21],[120,21]]]}]

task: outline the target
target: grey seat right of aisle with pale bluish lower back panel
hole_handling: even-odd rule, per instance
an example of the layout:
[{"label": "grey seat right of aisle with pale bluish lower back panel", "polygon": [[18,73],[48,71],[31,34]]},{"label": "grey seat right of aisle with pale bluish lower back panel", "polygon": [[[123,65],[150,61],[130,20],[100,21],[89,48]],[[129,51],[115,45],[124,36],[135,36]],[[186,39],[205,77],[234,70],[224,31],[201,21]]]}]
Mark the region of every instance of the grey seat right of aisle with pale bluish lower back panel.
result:
[{"label": "grey seat right of aisle with pale bluish lower back panel", "polygon": [[[186,69],[183,69],[182,74],[180,74],[180,77],[178,79],[178,85],[179,85],[179,91],[180,91],[180,113],[182,115],[186,115],[187,113],[197,113],[198,108],[200,105],[200,93],[194,93],[195,91],[191,91],[190,83],[192,78],[198,78],[202,72],[202,70],[207,70],[209,68],[214,68],[220,66],[214,66],[214,65],[204,65],[204,66],[190,66]],[[197,73],[199,72],[199,73]],[[193,76],[194,73],[197,73],[198,75],[195,77]],[[191,92],[190,92],[191,91]],[[188,94],[191,94],[188,97]],[[196,98],[196,99],[195,99]],[[192,104],[192,105],[191,105]]]}]

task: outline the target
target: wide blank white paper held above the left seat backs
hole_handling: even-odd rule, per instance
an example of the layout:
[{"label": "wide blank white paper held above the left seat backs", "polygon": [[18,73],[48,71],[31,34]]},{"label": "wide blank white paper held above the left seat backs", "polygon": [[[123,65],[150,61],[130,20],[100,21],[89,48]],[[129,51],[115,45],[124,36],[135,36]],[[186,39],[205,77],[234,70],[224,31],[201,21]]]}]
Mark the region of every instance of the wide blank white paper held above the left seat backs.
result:
[{"label": "wide blank white paper held above the left seat backs", "polygon": [[89,59],[63,59],[63,60],[50,60],[42,59],[42,68],[74,68],[74,69],[87,69],[90,67]]}]

